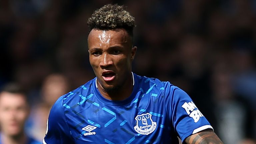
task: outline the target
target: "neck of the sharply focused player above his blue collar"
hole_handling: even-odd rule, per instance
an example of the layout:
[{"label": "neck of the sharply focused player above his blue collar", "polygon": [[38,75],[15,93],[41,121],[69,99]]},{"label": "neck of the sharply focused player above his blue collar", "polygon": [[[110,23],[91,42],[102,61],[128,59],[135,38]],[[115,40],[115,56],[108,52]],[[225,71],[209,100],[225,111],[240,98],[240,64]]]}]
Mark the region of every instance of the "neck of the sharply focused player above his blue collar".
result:
[{"label": "neck of the sharply focused player above his blue collar", "polygon": [[[98,82],[97,82],[98,83]],[[133,76],[129,73],[128,78],[125,80],[124,84],[120,87],[113,89],[111,91],[105,91],[104,88],[98,83],[99,92],[101,95],[109,100],[121,101],[128,98],[133,90]]]}]

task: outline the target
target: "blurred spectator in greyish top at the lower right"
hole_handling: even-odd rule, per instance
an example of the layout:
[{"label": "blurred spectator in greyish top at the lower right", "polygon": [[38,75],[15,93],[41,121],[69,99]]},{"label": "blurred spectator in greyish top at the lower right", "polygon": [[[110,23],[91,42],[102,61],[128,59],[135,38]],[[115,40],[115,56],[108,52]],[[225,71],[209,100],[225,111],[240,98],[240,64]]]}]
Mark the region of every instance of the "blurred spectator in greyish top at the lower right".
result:
[{"label": "blurred spectator in greyish top at the lower right", "polygon": [[214,115],[216,131],[225,144],[235,144],[251,135],[252,119],[247,102],[236,95],[231,85],[231,73],[225,61],[215,64],[213,73]]}]

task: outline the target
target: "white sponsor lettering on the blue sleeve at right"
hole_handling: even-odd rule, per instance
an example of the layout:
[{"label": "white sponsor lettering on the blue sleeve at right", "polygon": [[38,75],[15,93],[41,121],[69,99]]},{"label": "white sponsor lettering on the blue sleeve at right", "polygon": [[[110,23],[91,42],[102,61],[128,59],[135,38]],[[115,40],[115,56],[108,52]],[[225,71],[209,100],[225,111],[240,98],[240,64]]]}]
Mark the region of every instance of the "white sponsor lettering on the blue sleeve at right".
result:
[{"label": "white sponsor lettering on the blue sleeve at right", "polygon": [[198,110],[196,105],[191,101],[191,102],[185,102],[182,107],[185,109],[189,117],[194,119],[194,122],[198,122],[200,117],[203,117],[204,115]]}]

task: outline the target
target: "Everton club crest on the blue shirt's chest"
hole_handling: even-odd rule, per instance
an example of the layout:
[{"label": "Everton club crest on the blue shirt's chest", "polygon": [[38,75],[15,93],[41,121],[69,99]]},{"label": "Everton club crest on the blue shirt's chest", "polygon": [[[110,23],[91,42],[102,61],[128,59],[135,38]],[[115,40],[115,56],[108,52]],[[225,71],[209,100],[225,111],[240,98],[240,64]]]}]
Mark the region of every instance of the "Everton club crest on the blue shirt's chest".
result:
[{"label": "Everton club crest on the blue shirt's chest", "polygon": [[141,114],[137,115],[135,117],[135,120],[137,121],[136,126],[134,127],[134,130],[143,135],[148,135],[152,133],[156,129],[156,122],[153,122],[151,119],[151,114]]}]

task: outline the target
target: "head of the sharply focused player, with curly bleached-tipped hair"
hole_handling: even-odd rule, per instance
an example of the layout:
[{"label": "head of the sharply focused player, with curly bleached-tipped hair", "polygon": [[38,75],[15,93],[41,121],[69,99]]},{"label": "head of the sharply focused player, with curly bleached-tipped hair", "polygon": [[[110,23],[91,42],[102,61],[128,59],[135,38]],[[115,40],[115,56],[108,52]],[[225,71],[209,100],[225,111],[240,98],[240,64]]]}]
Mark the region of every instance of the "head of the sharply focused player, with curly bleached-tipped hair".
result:
[{"label": "head of the sharply focused player, with curly bleached-tipped hair", "polygon": [[123,6],[105,5],[88,20],[90,63],[100,86],[111,92],[131,80],[134,17]]}]

